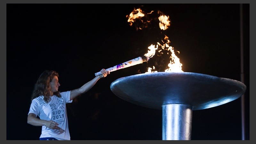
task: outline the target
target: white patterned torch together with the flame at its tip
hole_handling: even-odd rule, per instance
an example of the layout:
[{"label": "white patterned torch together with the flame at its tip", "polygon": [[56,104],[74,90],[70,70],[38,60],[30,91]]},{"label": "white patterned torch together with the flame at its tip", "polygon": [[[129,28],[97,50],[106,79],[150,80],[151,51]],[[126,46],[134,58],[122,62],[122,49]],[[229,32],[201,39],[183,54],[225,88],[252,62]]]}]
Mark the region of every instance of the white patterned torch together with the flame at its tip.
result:
[{"label": "white patterned torch together with the flame at its tip", "polygon": [[[156,48],[155,48],[155,45],[151,44],[148,47],[148,49],[149,49],[148,53],[144,54],[142,57],[138,57],[138,58],[135,58],[133,60],[129,60],[129,61],[126,61],[126,62],[121,63],[119,65],[116,65],[114,67],[107,68],[106,71],[112,72],[112,71],[116,71],[118,69],[131,67],[131,66],[134,66],[134,65],[137,65],[137,64],[141,64],[145,61],[148,61],[149,58],[152,58],[155,55],[157,48],[158,48],[158,45],[156,45]],[[98,75],[102,75],[102,73],[101,72],[95,73],[95,76],[98,76]]]}]

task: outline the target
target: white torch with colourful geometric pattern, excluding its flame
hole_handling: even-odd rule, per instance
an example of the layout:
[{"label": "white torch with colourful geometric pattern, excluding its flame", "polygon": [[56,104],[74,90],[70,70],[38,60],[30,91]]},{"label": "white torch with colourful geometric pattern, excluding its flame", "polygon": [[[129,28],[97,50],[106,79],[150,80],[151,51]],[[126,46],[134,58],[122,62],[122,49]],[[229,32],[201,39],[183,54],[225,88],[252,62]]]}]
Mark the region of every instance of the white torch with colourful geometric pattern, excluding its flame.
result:
[{"label": "white torch with colourful geometric pattern, excluding its flame", "polygon": [[[149,57],[146,57],[145,55],[143,55],[142,57],[138,57],[138,58],[135,58],[133,60],[129,60],[129,61],[126,61],[126,62],[121,63],[119,65],[116,65],[114,67],[108,68],[108,69],[106,69],[106,71],[109,71],[109,72],[116,71],[118,69],[131,67],[131,66],[143,63],[143,62],[148,61],[148,60],[149,60]],[[101,72],[95,73],[95,76],[98,76],[98,75],[102,75],[102,73]]]}]

